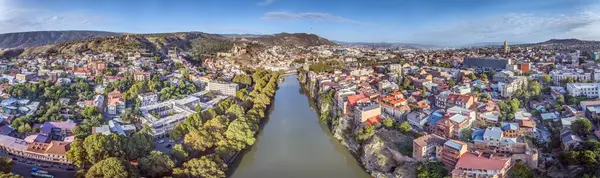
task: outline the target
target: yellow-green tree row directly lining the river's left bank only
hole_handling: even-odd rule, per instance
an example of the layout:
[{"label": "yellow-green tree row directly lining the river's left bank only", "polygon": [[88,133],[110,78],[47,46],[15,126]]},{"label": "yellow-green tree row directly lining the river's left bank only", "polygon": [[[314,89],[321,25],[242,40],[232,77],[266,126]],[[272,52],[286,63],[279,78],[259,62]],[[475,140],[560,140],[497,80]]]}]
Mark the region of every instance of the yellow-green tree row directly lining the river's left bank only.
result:
[{"label": "yellow-green tree row directly lining the river's left bank only", "polygon": [[[183,162],[173,170],[174,177],[225,177],[226,162],[233,155],[253,145],[260,120],[275,95],[279,73],[257,69],[251,79],[239,77],[237,82],[252,82],[253,90],[238,93],[241,97],[225,99],[215,108],[193,114],[169,133],[184,140],[171,154]],[[190,155],[203,155],[189,159]]]}]

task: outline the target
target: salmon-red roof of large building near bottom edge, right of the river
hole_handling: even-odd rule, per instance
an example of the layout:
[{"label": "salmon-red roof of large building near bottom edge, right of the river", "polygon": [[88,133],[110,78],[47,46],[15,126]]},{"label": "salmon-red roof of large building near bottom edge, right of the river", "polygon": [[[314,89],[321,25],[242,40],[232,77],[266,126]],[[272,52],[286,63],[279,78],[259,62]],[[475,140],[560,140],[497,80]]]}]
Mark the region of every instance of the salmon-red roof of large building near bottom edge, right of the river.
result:
[{"label": "salmon-red roof of large building near bottom edge, right of the river", "polygon": [[510,162],[510,158],[484,157],[472,153],[463,154],[456,163],[457,168],[480,169],[480,170],[502,170]]}]

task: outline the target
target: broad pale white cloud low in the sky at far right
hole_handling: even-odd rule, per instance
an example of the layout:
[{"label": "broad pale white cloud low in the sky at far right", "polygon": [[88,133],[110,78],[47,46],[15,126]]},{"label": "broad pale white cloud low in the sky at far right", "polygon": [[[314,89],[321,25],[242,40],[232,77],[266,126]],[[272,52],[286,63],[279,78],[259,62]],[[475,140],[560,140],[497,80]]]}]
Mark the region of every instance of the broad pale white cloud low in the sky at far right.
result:
[{"label": "broad pale white cloud low in the sky at far right", "polygon": [[504,40],[540,42],[551,38],[600,40],[600,13],[509,13],[440,25],[438,29],[415,34],[413,40],[448,45]]}]

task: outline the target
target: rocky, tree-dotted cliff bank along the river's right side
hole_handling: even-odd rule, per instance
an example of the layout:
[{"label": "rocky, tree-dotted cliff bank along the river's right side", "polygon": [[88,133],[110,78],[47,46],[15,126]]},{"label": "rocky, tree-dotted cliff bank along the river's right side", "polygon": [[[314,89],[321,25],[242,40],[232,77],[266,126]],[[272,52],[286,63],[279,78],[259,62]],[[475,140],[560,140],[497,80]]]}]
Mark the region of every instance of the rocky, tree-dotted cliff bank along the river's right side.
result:
[{"label": "rocky, tree-dotted cliff bank along the river's right side", "polygon": [[417,162],[410,157],[413,137],[393,128],[380,128],[370,138],[360,141],[357,126],[337,109],[333,92],[321,91],[318,78],[313,72],[298,74],[302,90],[322,123],[361,163],[364,171],[373,177],[416,177]]}]

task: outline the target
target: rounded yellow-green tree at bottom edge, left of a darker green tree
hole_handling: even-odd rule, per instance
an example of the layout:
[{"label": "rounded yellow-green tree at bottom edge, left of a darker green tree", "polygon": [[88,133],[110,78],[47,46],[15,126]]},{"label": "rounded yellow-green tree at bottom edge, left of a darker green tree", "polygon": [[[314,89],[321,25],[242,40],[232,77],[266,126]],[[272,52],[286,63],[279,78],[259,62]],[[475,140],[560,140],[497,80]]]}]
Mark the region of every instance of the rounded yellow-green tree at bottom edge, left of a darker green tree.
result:
[{"label": "rounded yellow-green tree at bottom edge, left of a darker green tree", "polygon": [[110,157],[92,166],[85,174],[86,178],[130,178],[140,177],[138,170],[127,161]]}]

